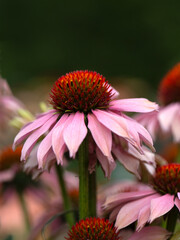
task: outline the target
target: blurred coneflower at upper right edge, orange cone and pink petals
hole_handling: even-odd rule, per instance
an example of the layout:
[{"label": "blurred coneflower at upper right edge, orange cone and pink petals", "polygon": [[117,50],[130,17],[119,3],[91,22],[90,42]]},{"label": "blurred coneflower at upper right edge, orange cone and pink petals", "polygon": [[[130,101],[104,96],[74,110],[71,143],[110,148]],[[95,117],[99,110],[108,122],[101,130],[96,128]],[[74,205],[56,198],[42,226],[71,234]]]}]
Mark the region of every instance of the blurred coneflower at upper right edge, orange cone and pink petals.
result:
[{"label": "blurred coneflower at upper right edge, orange cone and pink petals", "polygon": [[171,134],[180,142],[180,63],[176,64],[162,79],[158,93],[159,112],[140,114],[136,120],[145,126],[155,139],[159,131]]}]

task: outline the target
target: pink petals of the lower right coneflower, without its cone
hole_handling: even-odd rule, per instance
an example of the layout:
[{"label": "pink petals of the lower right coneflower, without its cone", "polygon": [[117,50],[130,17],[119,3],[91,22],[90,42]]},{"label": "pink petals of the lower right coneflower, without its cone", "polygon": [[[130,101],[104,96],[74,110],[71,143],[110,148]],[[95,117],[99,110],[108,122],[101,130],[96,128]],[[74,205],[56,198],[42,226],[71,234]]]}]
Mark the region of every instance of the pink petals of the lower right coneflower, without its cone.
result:
[{"label": "pink petals of the lower right coneflower, without its cone", "polygon": [[137,221],[136,230],[168,213],[174,206],[180,210],[180,193],[161,195],[153,188],[137,183],[129,190],[107,197],[104,208],[109,212],[110,221],[122,229]]}]

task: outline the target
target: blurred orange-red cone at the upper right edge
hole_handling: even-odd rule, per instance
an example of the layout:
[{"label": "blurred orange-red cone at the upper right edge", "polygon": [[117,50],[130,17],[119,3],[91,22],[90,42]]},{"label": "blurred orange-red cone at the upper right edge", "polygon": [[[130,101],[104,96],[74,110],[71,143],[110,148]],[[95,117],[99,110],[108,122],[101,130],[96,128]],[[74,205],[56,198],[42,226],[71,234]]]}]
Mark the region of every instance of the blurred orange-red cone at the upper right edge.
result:
[{"label": "blurred orange-red cone at the upper right edge", "polygon": [[159,99],[163,105],[180,102],[180,63],[175,65],[162,79]]}]

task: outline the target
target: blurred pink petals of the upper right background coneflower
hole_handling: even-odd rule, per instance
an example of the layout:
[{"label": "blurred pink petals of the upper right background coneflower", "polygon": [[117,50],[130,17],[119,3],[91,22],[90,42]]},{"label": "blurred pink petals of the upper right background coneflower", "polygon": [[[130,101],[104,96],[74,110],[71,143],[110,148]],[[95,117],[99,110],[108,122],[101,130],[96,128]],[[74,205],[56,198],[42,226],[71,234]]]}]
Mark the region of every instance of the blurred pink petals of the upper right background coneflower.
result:
[{"label": "blurred pink petals of the upper right background coneflower", "polygon": [[158,112],[139,114],[135,119],[147,128],[154,140],[158,133],[162,133],[171,135],[175,142],[180,142],[180,103],[160,107]]}]

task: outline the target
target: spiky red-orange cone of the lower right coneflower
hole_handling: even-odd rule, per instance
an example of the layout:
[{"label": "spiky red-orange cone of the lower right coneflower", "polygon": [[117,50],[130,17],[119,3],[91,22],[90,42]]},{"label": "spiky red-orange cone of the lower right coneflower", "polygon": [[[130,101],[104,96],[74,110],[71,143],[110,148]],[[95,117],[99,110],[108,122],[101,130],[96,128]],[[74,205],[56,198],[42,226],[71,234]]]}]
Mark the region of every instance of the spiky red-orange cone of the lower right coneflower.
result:
[{"label": "spiky red-orange cone of the lower right coneflower", "polygon": [[176,195],[180,192],[180,164],[172,163],[158,167],[153,186],[160,193]]}]

